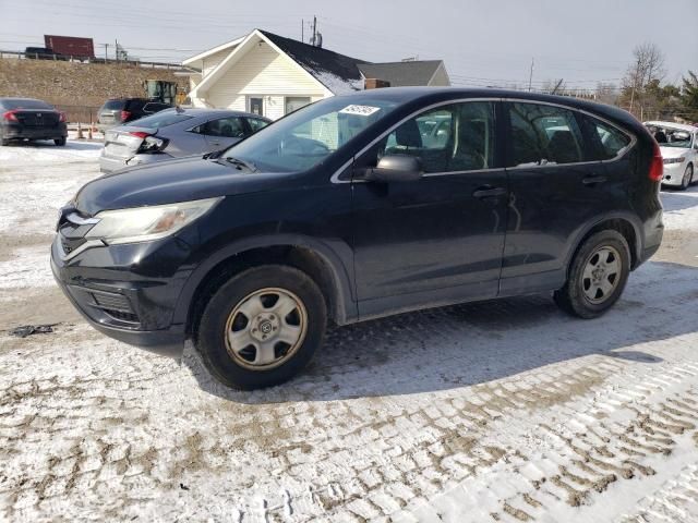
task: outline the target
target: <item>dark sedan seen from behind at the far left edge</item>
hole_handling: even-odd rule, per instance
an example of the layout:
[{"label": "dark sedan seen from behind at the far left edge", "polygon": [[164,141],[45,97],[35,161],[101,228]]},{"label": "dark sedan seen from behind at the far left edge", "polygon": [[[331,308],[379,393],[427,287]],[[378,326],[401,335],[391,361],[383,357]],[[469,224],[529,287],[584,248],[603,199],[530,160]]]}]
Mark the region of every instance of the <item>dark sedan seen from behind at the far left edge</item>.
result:
[{"label": "dark sedan seen from behind at the far left edge", "polygon": [[11,141],[52,139],[65,145],[65,113],[46,101],[34,98],[0,98],[0,143]]}]

